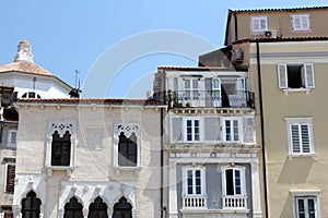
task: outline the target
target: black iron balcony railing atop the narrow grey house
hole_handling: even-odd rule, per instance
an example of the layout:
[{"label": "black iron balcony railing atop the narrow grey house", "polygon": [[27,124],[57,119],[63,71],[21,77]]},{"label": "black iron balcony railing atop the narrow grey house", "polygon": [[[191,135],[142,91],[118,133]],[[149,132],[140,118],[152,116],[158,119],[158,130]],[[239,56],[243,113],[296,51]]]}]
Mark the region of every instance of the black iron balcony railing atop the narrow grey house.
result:
[{"label": "black iron balcony railing atop the narrow grey house", "polygon": [[254,93],[245,90],[175,90],[168,93],[171,107],[255,108]]}]

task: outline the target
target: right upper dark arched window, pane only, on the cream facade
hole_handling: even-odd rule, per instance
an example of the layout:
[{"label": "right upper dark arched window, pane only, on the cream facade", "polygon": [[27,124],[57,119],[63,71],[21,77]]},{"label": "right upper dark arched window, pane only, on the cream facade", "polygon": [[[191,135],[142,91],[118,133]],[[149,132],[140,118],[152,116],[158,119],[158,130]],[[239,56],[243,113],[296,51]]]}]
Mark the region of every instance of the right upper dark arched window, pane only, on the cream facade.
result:
[{"label": "right upper dark arched window, pane only, on the cream facade", "polygon": [[132,133],[127,137],[122,132],[118,142],[118,165],[124,167],[137,166],[137,135]]}]

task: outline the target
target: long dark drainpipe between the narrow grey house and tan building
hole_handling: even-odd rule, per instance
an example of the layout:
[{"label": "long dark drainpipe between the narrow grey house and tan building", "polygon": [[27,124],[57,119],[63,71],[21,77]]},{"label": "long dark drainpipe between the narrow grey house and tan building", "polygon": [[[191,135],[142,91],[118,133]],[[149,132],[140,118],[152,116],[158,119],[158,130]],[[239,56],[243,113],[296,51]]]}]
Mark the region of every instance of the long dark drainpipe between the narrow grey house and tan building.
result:
[{"label": "long dark drainpipe between the narrow grey house and tan building", "polygon": [[259,95],[259,108],[260,108],[260,120],[261,120],[261,135],[262,135],[262,159],[263,159],[263,185],[265,185],[265,205],[266,205],[266,217],[269,218],[268,208],[268,180],[267,180],[267,158],[266,158],[266,146],[265,146],[265,118],[263,118],[263,105],[262,105],[262,84],[261,84],[261,66],[260,66],[260,53],[259,53],[259,41],[256,39],[256,59],[257,59],[257,73],[258,73],[258,95]]}]

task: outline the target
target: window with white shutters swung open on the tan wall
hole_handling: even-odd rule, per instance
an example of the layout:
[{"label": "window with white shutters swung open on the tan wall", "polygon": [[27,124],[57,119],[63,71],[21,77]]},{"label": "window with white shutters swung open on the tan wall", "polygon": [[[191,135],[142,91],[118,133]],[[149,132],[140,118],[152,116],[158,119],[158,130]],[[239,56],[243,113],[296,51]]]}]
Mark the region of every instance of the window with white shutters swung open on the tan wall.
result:
[{"label": "window with white shutters swung open on the tan wall", "polygon": [[313,63],[278,64],[279,88],[314,88]]}]

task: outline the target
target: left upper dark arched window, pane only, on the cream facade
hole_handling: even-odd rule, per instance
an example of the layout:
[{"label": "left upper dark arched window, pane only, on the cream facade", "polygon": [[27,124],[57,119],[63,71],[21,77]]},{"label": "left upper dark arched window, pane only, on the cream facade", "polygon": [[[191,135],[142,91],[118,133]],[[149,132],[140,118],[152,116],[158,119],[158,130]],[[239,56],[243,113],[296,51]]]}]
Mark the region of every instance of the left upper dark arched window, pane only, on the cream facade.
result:
[{"label": "left upper dark arched window, pane only, on the cream facade", "polygon": [[52,134],[51,143],[51,166],[70,166],[71,134],[66,131],[60,137],[58,131]]}]

